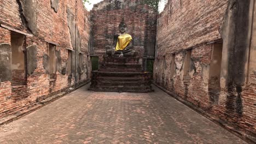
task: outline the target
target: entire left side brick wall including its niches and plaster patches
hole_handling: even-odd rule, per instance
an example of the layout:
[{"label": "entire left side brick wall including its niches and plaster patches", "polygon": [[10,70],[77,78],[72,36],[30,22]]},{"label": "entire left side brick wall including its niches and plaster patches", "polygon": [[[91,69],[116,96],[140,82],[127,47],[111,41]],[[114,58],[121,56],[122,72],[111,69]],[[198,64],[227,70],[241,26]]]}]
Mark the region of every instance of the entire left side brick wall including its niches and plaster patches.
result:
[{"label": "entire left side brick wall including its niches and plaster patches", "polygon": [[0,5],[0,118],[90,79],[90,13],[82,1]]}]

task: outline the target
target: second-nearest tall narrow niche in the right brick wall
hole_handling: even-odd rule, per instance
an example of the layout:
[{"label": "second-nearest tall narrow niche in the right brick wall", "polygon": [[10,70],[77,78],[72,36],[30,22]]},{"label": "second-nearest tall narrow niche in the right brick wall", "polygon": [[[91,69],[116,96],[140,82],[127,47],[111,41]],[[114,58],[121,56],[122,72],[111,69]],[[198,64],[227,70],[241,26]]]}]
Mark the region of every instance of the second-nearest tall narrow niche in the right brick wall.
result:
[{"label": "second-nearest tall narrow niche in the right brick wall", "polygon": [[191,53],[192,53],[192,49],[190,50],[187,50],[187,53],[184,57],[184,82],[187,82],[190,80],[190,75],[189,75],[189,72],[190,72],[190,67],[191,67]]}]

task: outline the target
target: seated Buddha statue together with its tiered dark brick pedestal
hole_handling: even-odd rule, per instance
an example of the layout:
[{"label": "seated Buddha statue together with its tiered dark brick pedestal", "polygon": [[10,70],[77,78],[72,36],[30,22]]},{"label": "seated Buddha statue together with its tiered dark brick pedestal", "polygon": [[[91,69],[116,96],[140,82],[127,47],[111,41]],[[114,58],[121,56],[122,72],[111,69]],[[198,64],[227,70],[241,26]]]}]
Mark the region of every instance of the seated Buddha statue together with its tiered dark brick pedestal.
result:
[{"label": "seated Buddha statue together with its tiered dark brick pedestal", "polygon": [[113,48],[106,51],[100,69],[92,71],[90,90],[103,92],[152,92],[152,74],[144,73],[138,55],[127,34],[127,25],[120,22]]}]

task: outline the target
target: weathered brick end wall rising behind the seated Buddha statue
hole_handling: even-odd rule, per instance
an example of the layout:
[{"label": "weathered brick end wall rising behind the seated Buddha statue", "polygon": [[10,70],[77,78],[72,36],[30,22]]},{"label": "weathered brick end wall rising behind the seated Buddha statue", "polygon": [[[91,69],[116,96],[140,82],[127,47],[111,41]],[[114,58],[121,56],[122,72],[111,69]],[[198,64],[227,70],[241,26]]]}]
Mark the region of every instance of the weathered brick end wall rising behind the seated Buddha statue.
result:
[{"label": "weathered brick end wall rising behind the seated Buddha statue", "polygon": [[91,11],[92,53],[104,56],[106,49],[112,49],[114,34],[119,33],[118,26],[124,17],[138,57],[154,57],[156,16],[155,10],[140,5],[137,0],[104,0],[94,5]]}]

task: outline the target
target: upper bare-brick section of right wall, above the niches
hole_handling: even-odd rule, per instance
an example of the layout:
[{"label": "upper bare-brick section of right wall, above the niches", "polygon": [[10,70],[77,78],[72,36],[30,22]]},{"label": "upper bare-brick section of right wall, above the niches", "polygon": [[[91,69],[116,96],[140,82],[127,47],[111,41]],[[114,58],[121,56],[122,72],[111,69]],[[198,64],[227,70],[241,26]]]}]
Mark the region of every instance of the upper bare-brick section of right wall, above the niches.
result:
[{"label": "upper bare-brick section of right wall, above the niches", "polygon": [[159,55],[220,39],[228,0],[168,1],[158,17]]}]

